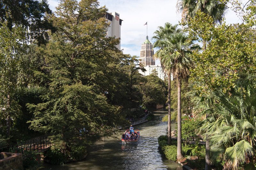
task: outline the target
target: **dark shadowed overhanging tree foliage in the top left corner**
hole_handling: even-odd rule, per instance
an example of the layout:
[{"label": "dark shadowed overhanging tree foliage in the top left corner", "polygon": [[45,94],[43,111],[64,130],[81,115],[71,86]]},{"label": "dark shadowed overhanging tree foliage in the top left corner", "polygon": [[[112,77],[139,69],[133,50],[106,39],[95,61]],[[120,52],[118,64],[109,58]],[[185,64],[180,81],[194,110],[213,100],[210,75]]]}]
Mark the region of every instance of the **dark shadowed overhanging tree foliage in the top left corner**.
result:
[{"label": "dark shadowed overhanging tree foliage in the top left corner", "polygon": [[39,45],[47,42],[47,29],[54,30],[52,23],[46,19],[46,14],[52,13],[47,1],[1,0],[0,4],[0,25],[5,22],[9,29],[13,26],[29,27],[31,38],[35,38]]}]

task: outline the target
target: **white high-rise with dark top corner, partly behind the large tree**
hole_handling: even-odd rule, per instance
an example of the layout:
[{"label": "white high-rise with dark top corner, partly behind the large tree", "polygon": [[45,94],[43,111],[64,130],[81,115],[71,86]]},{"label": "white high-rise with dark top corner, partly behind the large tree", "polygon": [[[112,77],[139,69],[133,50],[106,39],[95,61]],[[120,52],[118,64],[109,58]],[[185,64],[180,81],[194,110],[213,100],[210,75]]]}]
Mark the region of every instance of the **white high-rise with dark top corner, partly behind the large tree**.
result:
[{"label": "white high-rise with dark top corner, partly behind the large tree", "polygon": [[[121,25],[122,19],[119,18],[119,13],[112,12],[106,14],[106,19],[108,19],[108,23],[110,23],[107,30],[107,37],[121,38]],[[121,43],[117,45],[118,50],[121,50]]]}]

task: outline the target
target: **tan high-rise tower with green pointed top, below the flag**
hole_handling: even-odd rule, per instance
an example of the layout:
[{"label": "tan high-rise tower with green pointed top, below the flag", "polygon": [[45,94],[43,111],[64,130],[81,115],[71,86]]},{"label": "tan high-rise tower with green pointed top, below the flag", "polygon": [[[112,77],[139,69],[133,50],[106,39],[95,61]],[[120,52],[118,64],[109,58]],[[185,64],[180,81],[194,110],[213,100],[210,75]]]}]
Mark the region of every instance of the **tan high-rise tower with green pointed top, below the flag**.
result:
[{"label": "tan high-rise tower with green pointed top, below the flag", "polygon": [[153,58],[154,50],[153,45],[148,40],[148,35],[143,44],[141,44],[140,58],[139,61],[143,66],[155,65],[156,61]]}]

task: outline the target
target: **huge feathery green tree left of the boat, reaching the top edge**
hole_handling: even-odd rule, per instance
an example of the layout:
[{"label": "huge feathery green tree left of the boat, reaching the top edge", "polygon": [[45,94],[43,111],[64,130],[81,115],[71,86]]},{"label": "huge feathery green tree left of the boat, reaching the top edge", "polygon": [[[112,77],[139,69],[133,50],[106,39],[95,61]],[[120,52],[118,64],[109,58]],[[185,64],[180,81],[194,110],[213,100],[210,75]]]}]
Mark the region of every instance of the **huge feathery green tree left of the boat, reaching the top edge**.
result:
[{"label": "huge feathery green tree left of the boat, reaching the top edge", "polygon": [[106,12],[96,0],[64,0],[56,8],[58,17],[49,16],[57,31],[45,47],[44,71],[36,73],[46,77],[48,93],[42,103],[28,104],[35,115],[29,123],[32,129],[54,133],[62,150],[112,134],[124,121],[121,107],[105,96],[106,68],[119,52],[119,39],[105,36]]}]

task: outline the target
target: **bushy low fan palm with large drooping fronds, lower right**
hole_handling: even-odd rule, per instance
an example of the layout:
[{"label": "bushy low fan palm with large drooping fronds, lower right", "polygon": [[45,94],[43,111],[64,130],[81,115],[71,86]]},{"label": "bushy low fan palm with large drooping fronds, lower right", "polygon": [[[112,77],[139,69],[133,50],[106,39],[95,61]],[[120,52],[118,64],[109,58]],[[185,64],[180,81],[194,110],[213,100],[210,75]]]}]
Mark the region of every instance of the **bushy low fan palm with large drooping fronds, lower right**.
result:
[{"label": "bushy low fan palm with large drooping fronds, lower right", "polygon": [[[198,97],[198,104],[205,108],[201,114],[209,115],[200,130],[209,136],[211,163],[222,158],[225,169],[237,169],[243,164],[245,169],[256,169],[255,86],[255,79],[245,74],[240,75],[229,93],[217,89],[211,92],[212,97]],[[205,102],[206,98],[215,101]],[[207,106],[209,103],[211,107]]]}]

